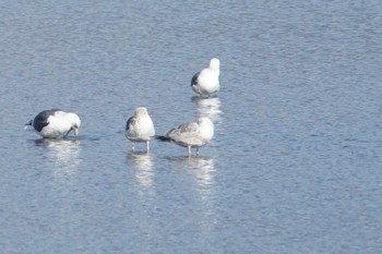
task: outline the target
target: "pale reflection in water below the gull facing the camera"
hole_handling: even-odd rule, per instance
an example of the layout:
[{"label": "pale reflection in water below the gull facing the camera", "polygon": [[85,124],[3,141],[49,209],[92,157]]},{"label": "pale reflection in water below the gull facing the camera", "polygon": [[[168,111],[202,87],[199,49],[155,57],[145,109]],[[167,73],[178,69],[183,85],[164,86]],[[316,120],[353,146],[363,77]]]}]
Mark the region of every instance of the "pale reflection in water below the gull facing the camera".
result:
[{"label": "pale reflection in water below the gull facing the camera", "polygon": [[150,188],[154,183],[153,160],[147,153],[133,153],[128,155],[128,162],[131,161],[135,169],[135,178],[140,185]]}]

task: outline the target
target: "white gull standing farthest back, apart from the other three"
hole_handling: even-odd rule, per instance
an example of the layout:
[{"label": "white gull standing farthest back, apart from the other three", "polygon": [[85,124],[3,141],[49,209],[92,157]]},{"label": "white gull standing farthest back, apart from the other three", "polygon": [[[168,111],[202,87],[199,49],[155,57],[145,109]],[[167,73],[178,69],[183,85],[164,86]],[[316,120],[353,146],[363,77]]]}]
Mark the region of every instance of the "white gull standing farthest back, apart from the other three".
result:
[{"label": "white gull standing farthest back, apart from the other three", "polygon": [[217,58],[213,58],[210,61],[210,66],[203,69],[192,76],[191,87],[192,90],[201,96],[210,97],[220,88],[219,85],[219,70],[220,62]]}]

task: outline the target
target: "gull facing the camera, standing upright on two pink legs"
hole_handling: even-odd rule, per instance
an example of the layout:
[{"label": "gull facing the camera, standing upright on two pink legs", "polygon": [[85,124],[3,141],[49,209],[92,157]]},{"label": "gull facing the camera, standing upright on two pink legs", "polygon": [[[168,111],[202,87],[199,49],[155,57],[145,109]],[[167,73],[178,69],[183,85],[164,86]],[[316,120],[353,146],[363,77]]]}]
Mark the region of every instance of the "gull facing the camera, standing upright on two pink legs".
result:
[{"label": "gull facing the camera, standing upright on two pink legs", "polygon": [[147,109],[139,107],[134,116],[129,118],[126,124],[126,137],[131,141],[131,150],[135,150],[135,142],[146,143],[146,152],[150,150],[150,138],[155,135],[154,123],[147,113]]}]

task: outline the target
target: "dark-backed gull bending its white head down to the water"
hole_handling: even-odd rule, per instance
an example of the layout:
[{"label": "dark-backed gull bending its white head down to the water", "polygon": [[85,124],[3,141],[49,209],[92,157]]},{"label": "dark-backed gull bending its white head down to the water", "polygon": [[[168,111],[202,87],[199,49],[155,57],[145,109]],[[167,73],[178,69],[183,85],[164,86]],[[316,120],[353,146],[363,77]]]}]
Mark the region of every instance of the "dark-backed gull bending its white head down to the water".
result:
[{"label": "dark-backed gull bending its white head down to the water", "polygon": [[79,135],[81,120],[77,114],[64,112],[60,109],[50,109],[39,112],[34,120],[25,124],[33,126],[34,130],[45,138],[56,138],[63,136],[73,131],[74,135]]}]

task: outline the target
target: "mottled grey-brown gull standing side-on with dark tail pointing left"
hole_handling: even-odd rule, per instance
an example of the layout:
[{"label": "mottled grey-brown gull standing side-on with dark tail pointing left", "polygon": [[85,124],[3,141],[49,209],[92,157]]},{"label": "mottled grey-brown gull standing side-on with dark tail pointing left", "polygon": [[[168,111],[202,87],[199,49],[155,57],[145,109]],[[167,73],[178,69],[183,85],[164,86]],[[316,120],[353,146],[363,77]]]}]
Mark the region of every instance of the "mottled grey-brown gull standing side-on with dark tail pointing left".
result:
[{"label": "mottled grey-brown gull standing side-on with dark tail pointing left", "polygon": [[207,144],[214,136],[214,123],[208,118],[199,118],[196,122],[187,122],[169,130],[165,135],[156,136],[159,141],[174,142],[175,144],[189,148],[199,148]]}]

